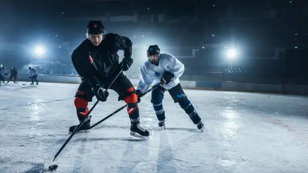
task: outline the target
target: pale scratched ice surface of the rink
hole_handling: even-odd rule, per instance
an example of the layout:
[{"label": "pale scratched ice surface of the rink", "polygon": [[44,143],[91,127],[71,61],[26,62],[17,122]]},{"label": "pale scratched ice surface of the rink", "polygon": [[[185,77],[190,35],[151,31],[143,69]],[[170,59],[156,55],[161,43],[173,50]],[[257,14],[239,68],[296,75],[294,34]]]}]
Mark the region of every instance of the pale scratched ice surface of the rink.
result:
[{"label": "pale scratched ice surface of the rink", "polygon": [[[68,138],[68,128],[79,123],[73,105],[77,84],[22,83],[0,87],[1,173],[39,172]],[[205,124],[203,133],[168,93],[167,129],[161,131],[148,94],[139,109],[149,140],[129,135],[122,110],[90,133],[75,134],[56,158],[55,172],[308,172],[308,98],[185,92]],[[117,100],[110,91],[91,123],[125,104]]]}]

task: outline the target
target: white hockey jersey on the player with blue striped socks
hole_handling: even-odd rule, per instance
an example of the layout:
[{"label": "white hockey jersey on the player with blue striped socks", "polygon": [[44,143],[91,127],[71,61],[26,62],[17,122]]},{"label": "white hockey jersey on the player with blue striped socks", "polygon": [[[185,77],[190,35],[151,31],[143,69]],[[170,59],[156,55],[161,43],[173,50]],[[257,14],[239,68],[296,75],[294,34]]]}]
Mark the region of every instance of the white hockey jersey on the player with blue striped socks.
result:
[{"label": "white hockey jersey on the player with blue striped socks", "polygon": [[170,90],[180,83],[179,77],[184,72],[184,64],[182,64],[182,62],[180,62],[175,56],[168,53],[162,53],[160,54],[158,66],[146,61],[141,65],[140,71],[141,75],[137,87],[137,90],[140,90],[140,92],[146,92],[150,84],[155,85],[161,82],[161,78],[165,71],[169,71],[174,74],[174,77],[171,79],[170,83],[163,86],[161,85],[165,89]]}]

